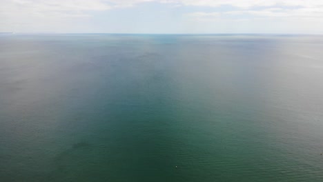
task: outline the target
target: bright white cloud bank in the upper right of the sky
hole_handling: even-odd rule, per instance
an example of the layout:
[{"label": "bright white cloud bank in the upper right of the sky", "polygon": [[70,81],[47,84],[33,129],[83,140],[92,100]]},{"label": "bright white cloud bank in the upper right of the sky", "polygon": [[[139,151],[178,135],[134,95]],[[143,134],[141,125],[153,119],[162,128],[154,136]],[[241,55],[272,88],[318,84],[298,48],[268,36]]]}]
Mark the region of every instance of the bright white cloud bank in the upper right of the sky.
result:
[{"label": "bright white cloud bank in the upper right of the sky", "polygon": [[188,17],[194,19],[216,20],[222,19],[306,19],[312,21],[323,21],[323,1],[181,1],[185,6],[234,6],[237,10],[222,12],[193,12]]}]

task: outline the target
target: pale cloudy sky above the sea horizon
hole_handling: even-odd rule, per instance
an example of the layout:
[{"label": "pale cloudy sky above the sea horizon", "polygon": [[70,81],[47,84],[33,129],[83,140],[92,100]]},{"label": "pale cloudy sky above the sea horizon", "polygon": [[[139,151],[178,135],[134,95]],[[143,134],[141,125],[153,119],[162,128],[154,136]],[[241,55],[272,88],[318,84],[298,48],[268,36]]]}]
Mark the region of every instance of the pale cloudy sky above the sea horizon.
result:
[{"label": "pale cloudy sky above the sea horizon", "polygon": [[323,1],[0,0],[0,32],[323,34]]}]

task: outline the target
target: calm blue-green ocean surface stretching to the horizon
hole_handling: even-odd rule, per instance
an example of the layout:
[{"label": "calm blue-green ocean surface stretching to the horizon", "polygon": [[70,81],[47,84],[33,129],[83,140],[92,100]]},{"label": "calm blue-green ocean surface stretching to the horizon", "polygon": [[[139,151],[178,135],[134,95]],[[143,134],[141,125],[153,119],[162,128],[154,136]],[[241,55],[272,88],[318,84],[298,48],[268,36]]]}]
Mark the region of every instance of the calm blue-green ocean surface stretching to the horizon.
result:
[{"label": "calm blue-green ocean surface stretching to the horizon", "polygon": [[323,36],[0,35],[0,181],[323,181]]}]

